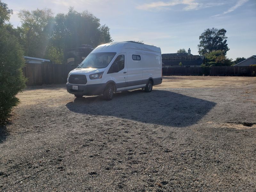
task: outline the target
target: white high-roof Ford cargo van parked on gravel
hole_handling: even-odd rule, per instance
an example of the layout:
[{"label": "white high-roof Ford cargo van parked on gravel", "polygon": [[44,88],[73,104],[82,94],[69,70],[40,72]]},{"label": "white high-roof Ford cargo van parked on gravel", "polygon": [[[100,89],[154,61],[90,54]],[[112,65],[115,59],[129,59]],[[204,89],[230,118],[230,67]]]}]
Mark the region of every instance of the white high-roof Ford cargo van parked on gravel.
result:
[{"label": "white high-roof Ford cargo van parked on gravel", "polygon": [[76,97],[104,95],[142,88],[151,92],[162,83],[161,49],[136,42],[116,42],[96,47],[70,71],[67,91]]}]

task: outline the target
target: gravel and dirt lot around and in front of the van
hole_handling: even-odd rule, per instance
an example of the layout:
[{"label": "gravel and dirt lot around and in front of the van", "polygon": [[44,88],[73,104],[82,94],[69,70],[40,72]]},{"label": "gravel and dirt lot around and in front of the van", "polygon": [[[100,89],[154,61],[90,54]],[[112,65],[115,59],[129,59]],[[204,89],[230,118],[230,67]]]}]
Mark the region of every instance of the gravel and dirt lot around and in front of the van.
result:
[{"label": "gravel and dirt lot around and in front of the van", "polygon": [[255,191],[256,78],[165,77],[151,93],[28,88],[0,127],[0,191]]}]

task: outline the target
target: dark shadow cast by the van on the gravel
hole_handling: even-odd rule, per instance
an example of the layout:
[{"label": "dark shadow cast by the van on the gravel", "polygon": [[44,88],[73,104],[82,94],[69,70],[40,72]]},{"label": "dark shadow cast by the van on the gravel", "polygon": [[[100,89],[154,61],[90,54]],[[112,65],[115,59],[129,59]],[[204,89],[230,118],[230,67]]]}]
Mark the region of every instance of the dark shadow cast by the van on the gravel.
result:
[{"label": "dark shadow cast by the van on the gravel", "polygon": [[216,103],[188,97],[179,93],[143,90],[115,93],[113,100],[105,101],[102,96],[76,98],[66,107],[73,112],[116,116],[135,121],[184,127],[195,124]]}]

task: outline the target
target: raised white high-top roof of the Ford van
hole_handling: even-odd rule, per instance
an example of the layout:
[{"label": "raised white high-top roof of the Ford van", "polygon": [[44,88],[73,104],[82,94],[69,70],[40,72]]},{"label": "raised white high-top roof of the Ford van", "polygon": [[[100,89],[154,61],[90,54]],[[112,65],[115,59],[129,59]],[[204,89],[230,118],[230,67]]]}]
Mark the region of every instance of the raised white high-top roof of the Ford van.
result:
[{"label": "raised white high-top roof of the Ford van", "polygon": [[112,42],[97,46],[92,52],[125,52],[126,49],[135,49],[148,52],[161,52],[156,46],[131,41]]}]

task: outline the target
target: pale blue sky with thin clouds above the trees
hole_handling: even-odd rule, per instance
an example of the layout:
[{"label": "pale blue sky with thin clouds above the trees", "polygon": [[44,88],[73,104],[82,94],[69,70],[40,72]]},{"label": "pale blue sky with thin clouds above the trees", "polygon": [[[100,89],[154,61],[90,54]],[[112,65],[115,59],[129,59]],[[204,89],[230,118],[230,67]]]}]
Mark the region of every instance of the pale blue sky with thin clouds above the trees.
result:
[{"label": "pale blue sky with thin clouds above the trees", "polygon": [[50,8],[67,13],[88,10],[110,28],[117,41],[143,41],[175,53],[184,48],[198,54],[199,36],[207,28],[227,30],[227,57],[256,55],[256,0],[2,0],[13,10],[10,22],[20,26],[22,10]]}]

